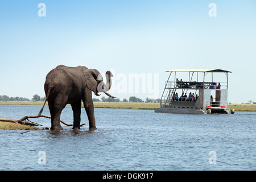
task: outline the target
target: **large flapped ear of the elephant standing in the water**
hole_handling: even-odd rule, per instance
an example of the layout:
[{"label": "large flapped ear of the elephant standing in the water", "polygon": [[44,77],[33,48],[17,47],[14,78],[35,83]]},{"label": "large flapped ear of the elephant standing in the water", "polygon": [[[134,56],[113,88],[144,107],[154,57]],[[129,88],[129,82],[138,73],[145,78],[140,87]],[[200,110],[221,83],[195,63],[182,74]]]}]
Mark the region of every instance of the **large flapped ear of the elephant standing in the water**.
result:
[{"label": "large flapped ear of the elephant standing in the water", "polygon": [[86,78],[86,87],[89,90],[92,90],[96,96],[100,96],[98,94],[97,86],[102,81],[102,76],[100,72],[97,71],[97,69],[88,69],[85,72],[85,78]]}]

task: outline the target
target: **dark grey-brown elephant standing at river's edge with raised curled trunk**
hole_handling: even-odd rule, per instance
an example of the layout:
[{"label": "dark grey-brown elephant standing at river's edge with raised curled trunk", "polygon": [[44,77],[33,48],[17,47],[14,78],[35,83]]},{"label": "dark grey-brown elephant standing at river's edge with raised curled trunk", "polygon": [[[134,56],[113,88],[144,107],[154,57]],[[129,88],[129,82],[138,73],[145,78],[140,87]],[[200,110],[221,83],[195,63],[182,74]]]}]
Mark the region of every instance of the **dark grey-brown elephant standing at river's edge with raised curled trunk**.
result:
[{"label": "dark grey-brown elephant standing at river's edge with raised curled trunk", "polygon": [[[108,93],[112,85],[111,77],[112,73],[107,71],[105,84],[97,69],[65,65],[58,65],[52,69],[44,83],[46,101],[51,114],[51,130],[63,130],[60,125],[60,114],[67,104],[71,104],[73,110],[73,129],[80,129],[81,101],[88,116],[89,130],[96,130],[92,92],[96,96],[100,96],[98,92],[104,92],[107,96],[115,98]],[[38,115],[42,114],[44,105]]]}]

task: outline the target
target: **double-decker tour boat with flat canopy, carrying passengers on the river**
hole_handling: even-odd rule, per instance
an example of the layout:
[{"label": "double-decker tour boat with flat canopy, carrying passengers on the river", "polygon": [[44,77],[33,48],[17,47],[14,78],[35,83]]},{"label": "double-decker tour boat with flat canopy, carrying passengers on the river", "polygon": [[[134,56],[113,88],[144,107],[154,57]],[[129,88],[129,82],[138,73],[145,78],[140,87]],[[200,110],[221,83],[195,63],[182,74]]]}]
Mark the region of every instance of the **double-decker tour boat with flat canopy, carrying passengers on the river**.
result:
[{"label": "double-decker tour boat with flat canopy, carrying passengers on the river", "polygon": [[233,113],[228,109],[228,73],[232,72],[222,69],[172,69],[166,72],[170,72],[170,76],[160,107],[155,107],[156,113]]}]

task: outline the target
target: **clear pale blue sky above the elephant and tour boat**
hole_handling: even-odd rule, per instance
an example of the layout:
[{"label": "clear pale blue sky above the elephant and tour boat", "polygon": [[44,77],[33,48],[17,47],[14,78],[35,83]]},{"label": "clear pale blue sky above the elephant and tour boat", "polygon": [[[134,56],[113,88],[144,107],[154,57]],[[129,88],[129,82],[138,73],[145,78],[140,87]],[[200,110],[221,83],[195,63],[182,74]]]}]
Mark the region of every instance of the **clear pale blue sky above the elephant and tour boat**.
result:
[{"label": "clear pale blue sky above the elephant and tour boat", "polygon": [[[45,17],[38,16],[41,2]],[[209,16],[209,3],[216,3],[217,16]],[[233,72],[230,102],[256,102],[254,0],[0,0],[0,24],[0,95],[43,97],[46,75],[59,64],[102,75],[110,69],[127,77],[158,74],[158,98],[168,78],[164,71],[216,68]],[[110,93],[121,100],[148,97]]]}]

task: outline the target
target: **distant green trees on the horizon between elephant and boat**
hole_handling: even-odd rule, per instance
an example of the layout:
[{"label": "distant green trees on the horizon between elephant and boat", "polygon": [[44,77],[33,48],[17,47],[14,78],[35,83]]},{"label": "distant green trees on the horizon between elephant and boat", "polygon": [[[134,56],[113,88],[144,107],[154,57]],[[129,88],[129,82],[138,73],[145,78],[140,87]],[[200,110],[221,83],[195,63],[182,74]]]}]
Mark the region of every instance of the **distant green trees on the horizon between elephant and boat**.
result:
[{"label": "distant green trees on the horizon between elephant and boat", "polygon": [[[101,98],[102,102],[120,102],[119,98],[111,98],[111,97],[102,97]],[[93,102],[100,102],[100,99],[98,98],[93,98]],[[122,102],[144,102],[141,98],[137,98],[135,96],[131,96],[129,98],[129,101],[124,98]],[[158,99],[154,99],[154,98],[146,98],[145,102],[155,102],[155,103],[159,103],[160,102],[160,98]]]}]

